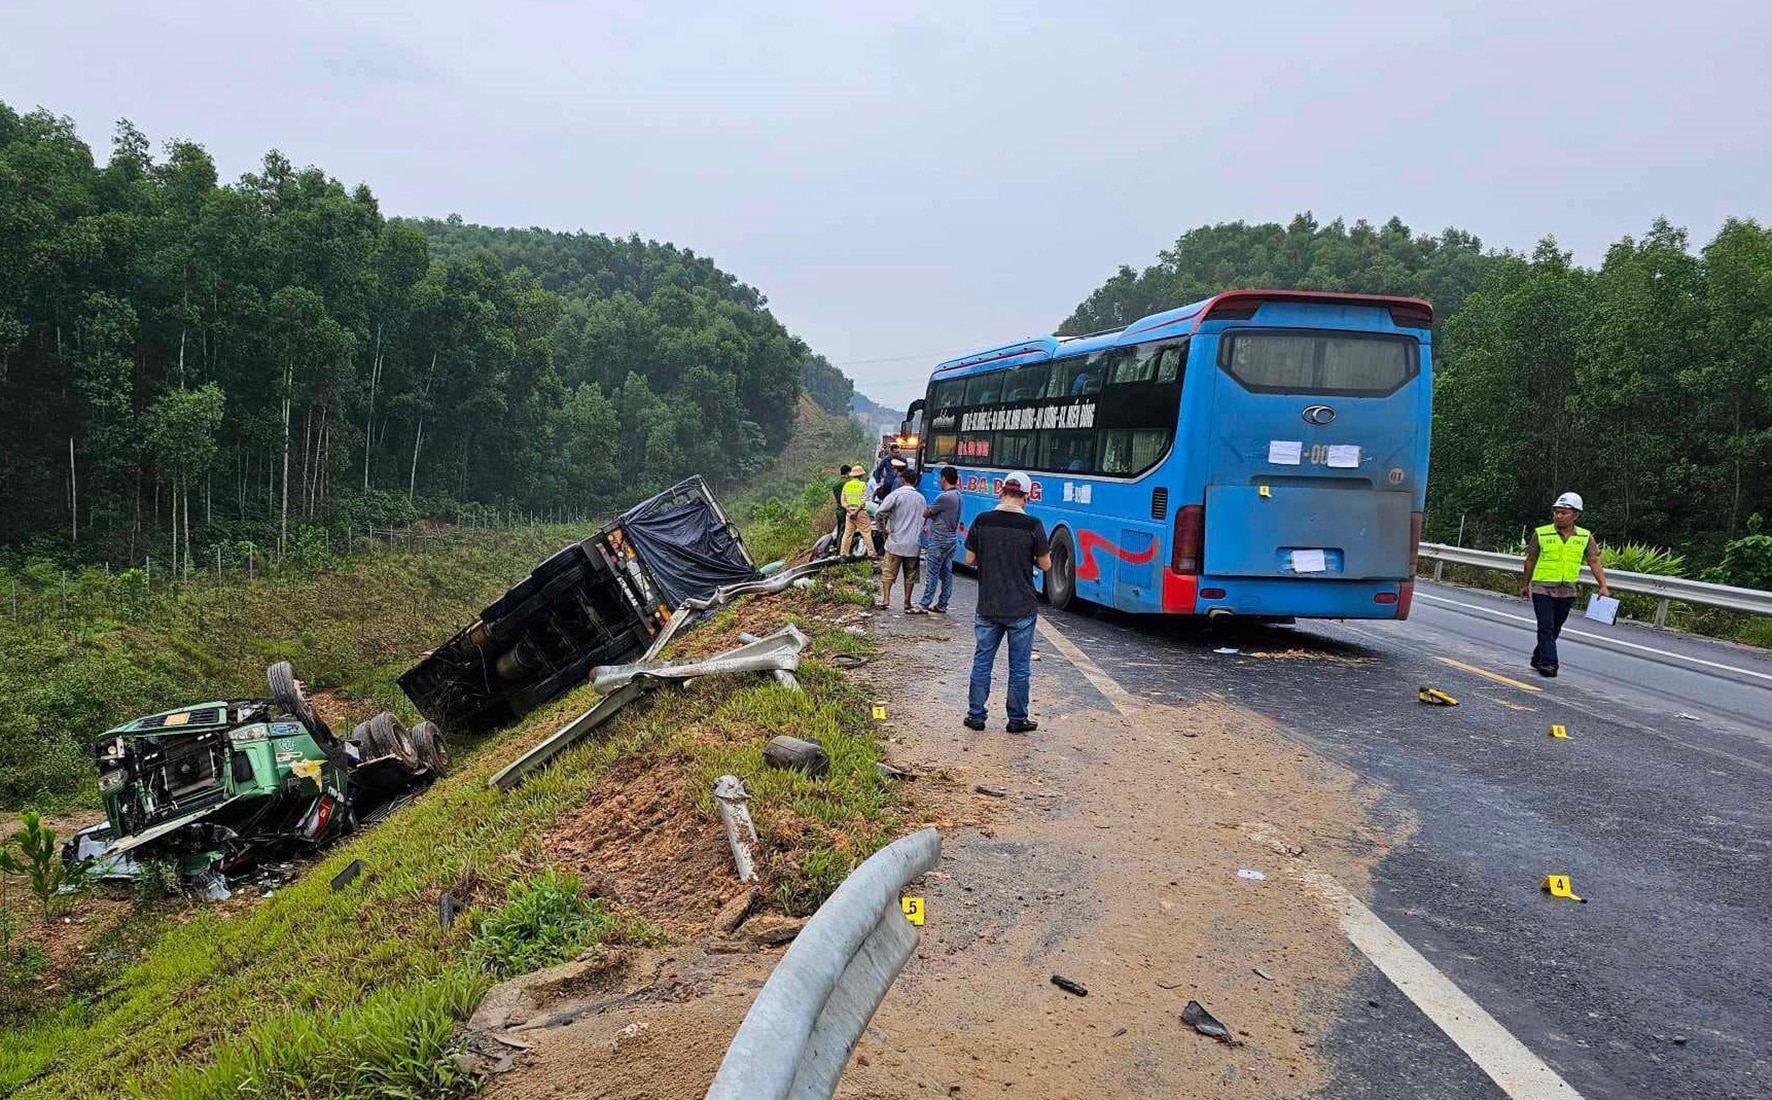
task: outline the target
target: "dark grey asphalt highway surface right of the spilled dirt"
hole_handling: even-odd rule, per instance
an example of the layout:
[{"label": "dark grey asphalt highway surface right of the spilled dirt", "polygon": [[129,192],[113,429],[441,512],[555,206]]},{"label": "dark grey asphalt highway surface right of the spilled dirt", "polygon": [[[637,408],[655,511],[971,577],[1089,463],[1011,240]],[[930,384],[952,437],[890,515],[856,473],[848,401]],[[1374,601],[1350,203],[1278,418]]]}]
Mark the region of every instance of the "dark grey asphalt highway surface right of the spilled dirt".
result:
[{"label": "dark grey asphalt highway surface right of the spilled dirt", "polygon": [[[1361,944],[1325,1095],[1772,1096],[1767,654],[1577,615],[1545,680],[1524,600],[1439,585],[1402,624],[1051,624],[1109,689],[1271,716],[1418,820],[1366,910],[1407,946],[1380,969]],[[1547,873],[1586,903],[1545,896]],[[1444,980],[1474,1006],[1439,1001]]]}]

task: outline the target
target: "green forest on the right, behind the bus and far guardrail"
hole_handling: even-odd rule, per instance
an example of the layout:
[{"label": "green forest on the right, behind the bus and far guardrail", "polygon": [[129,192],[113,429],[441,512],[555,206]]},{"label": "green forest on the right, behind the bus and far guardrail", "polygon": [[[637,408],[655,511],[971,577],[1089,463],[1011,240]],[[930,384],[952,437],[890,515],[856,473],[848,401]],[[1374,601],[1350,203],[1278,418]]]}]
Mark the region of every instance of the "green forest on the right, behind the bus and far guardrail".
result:
[{"label": "green forest on the right, behind the bus and far guardrail", "polygon": [[1232,287],[1416,294],[1434,303],[1434,459],[1426,530],[1503,547],[1563,489],[1584,524],[1719,579],[1772,585],[1772,232],[1729,220],[1694,250],[1657,220],[1598,269],[1552,237],[1485,252],[1455,229],[1416,236],[1299,214],[1189,230],[1145,271],[1120,267],[1063,331],[1113,328]]}]

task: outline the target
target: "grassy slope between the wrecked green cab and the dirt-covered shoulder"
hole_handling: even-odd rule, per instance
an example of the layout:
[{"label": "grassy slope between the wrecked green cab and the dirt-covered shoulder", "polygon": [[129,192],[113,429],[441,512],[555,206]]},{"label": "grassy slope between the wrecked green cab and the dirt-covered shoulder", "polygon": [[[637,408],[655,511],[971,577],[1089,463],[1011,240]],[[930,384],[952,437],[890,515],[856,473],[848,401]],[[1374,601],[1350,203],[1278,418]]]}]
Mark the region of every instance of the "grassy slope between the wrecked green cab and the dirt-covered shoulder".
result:
[{"label": "grassy slope between the wrecked green cab and the dirt-covered shoulder", "polygon": [[[764,618],[808,629],[867,588],[865,569],[847,567],[812,592],[741,606],[689,638],[709,648],[741,622],[757,629]],[[110,967],[108,981],[0,1036],[0,1093],[184,1100],[470,1089],[471,1077],[447,1056],[455,1022],[496,976],[594,942],[663,935],[661,923],[587,900],[549,871],[549,824],[615,794],[615,776],[679,769],[672,810],[709,829],[718,822],[707,783],[728,771],[744,778],[766,896],[808,910],[897,831],[895,797],[874,769],[881,753],[868,700],[819,659],[865,643],[831,625],[808,632],[801,693],[760,677],[654,693],[510,794],[487,788],[487,776],[594,696],[581,689],[486,739],[415,804],[340,845],[299,882],[262,902],[190,909],[138,953],[89,967]],[[822,740],[829,776],[766,769],[771,733]],[[353,859],[365,873],[333,893],[330,879]],[[447,932],[438,921],[443,891],[470,905]]]}]

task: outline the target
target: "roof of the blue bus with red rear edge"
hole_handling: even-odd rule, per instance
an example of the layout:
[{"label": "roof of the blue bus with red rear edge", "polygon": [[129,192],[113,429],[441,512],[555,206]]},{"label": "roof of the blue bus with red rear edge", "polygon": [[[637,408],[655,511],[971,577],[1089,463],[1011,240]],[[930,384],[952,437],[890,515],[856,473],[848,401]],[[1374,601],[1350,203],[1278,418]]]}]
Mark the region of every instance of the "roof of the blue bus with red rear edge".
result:
[{"label": "roof of the blue bus with red rear edge", "polygon": [[1123,328],[1086,333],[1081,337],[1031,337],[1015,344],[987,347],[936,365],[932,374],[946,374],[969,367],[1015,367],[1051,360],[1063,349],[1067,354],[1084,354],[1122,344],[1143,344],[1162,337],[1194,333],[1207,321],[1246,321],[1269,301],[1297,301],[1317,305],[1380,306],[1391,312],[1398,328],[1428,328],[1434,324],[1434,306],[1421,298],[1396,294],[1343,294],[1338,290],[1224,290],[1173,310],[1139,317]]}]

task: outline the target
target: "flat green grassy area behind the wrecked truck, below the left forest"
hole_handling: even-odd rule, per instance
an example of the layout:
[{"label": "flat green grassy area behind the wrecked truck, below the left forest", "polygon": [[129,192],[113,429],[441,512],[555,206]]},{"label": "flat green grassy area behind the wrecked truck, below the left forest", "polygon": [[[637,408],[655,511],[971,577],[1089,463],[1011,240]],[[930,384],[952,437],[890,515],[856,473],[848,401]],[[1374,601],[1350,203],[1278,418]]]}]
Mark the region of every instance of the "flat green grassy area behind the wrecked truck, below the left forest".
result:
[{"label": "flat green grassy area behind the wrecked truck, below the left forest", "polygon": [[292,661],[308,684],[363,710],[404,707],[411,721],[393,678],[443,639],[439,629],[471,620],[587,533],[420,531],[317,569],[197,576],[151,595],[87,576],[105,590],[76,588],[67,618],[0,616],[0,808],[96,804],[89,737],[179,703],[260,698],[273,661]]}]

